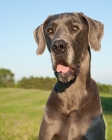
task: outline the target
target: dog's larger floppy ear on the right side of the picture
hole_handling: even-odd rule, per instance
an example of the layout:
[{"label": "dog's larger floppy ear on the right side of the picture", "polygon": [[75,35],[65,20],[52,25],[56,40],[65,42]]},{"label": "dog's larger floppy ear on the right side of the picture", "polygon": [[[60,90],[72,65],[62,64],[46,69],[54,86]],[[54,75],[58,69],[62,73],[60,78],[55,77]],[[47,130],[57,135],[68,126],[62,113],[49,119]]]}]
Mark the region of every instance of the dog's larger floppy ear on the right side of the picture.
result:
[{"label": "dog's larger floppy ear on the right side of the picture", "polygon": [[99,51],[101,49],[100,41],[104,34],[104,26],[101,22],[91,19],[85,16],[83,13],[80,13],[85,20],[85,23],[88,24],[89,32],[88,32],[88,41],[89,46],[94,51]]}]

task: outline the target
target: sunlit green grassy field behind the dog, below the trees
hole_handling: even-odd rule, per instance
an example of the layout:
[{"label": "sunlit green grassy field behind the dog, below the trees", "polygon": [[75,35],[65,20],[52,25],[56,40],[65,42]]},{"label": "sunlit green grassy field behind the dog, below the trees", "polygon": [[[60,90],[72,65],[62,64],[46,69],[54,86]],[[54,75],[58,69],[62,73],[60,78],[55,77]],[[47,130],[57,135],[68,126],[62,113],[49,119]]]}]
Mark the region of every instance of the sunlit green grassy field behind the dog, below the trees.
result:
[{"label": "sunlit green grassy field behind the dog, below the trees", "polygon": [[[0,89],[0,140],[37,140],[50,91]],[[101,93],[107,140],[112,140],[112,93]]]}]

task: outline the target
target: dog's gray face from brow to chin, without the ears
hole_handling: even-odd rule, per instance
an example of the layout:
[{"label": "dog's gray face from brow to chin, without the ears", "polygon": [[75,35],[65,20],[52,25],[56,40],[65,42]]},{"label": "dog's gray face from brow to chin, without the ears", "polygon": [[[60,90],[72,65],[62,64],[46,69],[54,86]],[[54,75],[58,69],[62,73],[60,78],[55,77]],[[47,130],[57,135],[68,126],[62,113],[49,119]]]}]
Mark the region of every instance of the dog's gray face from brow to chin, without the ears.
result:
[{"label": "dog's gray face from brow to chin, without the ears", "polygon": [[78,15],[55,15],[45,21],[44,36],[59,80],[68,82],[74,79],[88,47],[87,25]]}]

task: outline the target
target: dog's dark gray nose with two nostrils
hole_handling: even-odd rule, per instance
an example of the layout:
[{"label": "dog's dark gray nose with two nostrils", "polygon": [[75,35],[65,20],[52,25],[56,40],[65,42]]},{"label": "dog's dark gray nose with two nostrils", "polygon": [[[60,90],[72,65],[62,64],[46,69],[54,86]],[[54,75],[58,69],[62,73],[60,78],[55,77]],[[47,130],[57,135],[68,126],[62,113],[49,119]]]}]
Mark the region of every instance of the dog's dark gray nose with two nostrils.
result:
[{"label": "dog's dark gray nose with two nostrils", "polygon": [[52,51],[55,53],[63,53],[67,48],[67,43],[64,40],[54,41]]}]

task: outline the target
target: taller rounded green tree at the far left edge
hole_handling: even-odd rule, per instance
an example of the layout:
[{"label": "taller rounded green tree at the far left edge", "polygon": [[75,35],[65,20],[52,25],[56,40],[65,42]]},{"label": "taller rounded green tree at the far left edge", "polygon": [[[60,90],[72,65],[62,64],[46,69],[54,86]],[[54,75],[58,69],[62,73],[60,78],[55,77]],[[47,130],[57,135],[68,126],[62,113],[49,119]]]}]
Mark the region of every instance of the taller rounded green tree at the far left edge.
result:
[{"label": "taller rounded green tree at the far left edge", "polygon": [[13,87],[14,74],[9,69],[0,69],[0,87]]}]

